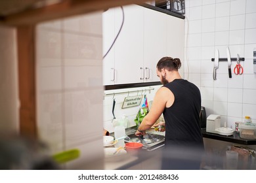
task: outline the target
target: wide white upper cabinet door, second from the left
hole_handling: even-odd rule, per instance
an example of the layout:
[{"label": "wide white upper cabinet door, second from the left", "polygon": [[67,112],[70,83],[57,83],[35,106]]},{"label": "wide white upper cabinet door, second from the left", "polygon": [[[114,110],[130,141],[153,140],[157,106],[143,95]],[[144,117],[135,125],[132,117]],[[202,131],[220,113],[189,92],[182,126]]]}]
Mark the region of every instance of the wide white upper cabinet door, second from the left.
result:
[{"label": "wide white upper cabinet door, second from the left", "polygon": [[[116,84],[142,82],[144,8],[139,5],[123,7],[123,29],[115,44]],[[121,8],[115,9],[115,35],[123,20]]]}]

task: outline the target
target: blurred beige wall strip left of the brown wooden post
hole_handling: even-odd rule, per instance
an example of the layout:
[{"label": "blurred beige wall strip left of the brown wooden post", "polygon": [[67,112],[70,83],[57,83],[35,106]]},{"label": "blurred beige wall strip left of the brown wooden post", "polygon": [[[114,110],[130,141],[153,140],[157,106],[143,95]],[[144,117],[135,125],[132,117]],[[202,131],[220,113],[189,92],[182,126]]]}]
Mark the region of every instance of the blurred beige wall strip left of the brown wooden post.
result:
[{"label": "blurred beige wall strip left of the brown wooden post", "polygon": [[16,30],[0,27],[0,131],[18,133]]}]

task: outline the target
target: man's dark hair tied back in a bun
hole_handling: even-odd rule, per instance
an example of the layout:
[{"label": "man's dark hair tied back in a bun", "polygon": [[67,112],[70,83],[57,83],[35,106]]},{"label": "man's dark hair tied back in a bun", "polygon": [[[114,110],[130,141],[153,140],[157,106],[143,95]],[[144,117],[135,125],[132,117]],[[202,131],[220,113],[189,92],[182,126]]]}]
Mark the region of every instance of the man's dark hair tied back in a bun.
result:
[{"label": "man's dark hair tied back in a bun", "polygon": [[161,69],[167,69],[168,71],[178,71],[181,67],[181,60],[179,58],[171,58],[171,57],[163,57],[158,61],[158,64],[156,65],[156,68],[158,68],[158,71],[161,71]]}]

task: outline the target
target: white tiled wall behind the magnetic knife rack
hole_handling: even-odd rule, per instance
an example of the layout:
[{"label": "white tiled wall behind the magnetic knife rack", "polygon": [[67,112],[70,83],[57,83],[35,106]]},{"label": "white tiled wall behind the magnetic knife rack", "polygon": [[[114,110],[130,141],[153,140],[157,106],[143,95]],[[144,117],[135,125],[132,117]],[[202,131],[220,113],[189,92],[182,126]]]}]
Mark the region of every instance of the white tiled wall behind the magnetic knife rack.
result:
[{"label": "white tiled wall behind the magnetic knife rack", "polygon": [[[255,0],[186,0],[185,78],[194,82],[202,93],[207,115],[221,114],[222,124],[234,129],[234,123],[251,116],[256,122],[256,75],[253,73],[253,48],[256,48]],[[219,62],[217,80],[213,81],[216,49],[226,58],[245,58],[243,75],[228,78],[228,63]],[[189,65],[189,67],[187,67]]]}]

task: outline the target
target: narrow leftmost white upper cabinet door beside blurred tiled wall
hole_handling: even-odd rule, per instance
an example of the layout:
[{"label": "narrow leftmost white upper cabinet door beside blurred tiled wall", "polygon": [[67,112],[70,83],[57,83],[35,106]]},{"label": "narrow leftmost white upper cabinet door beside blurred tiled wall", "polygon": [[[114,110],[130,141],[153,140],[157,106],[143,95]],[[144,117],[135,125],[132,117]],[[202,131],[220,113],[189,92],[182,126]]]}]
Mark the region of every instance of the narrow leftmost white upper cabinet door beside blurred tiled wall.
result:
[{"label": "narrow leftmost white upper cabinet door beside blurred tiled wall", "polygon": [[[102,45],[103,45],[103,54],[105,55],[112,42],[115,39],[114,32],[114,8],[108,9],[106,12],[102,13]],[[103,84],[112,85],[115,83],[115,68],[114,68],[114,47],[108,52],[106,57],[103,59]],[[103,56],[104,56],[103,55]]]}]

